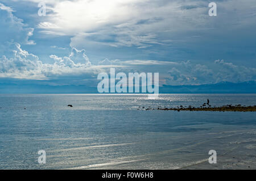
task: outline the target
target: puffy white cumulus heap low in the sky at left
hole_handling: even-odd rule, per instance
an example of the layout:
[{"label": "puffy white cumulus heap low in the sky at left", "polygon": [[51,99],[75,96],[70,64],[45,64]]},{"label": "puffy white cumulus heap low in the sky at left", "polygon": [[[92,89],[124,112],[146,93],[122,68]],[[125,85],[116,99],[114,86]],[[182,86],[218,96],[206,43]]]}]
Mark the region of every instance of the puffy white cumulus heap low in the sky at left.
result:
[{"label": "puffy white cumulus heap low in the sky at left", "polygon": [[[53,64],[44,64],[38,56],[28,53],[20,44],[10,45],[9,58],[0,58],[0,77],[19,79],[56,79],[58,77],[80,76],[90,74],[93,76],[102,71],[96,66],[91,66],[84,50],[72,49],[68,57],[51,55]],[[79,59],[81,58],[81,60]]]}]

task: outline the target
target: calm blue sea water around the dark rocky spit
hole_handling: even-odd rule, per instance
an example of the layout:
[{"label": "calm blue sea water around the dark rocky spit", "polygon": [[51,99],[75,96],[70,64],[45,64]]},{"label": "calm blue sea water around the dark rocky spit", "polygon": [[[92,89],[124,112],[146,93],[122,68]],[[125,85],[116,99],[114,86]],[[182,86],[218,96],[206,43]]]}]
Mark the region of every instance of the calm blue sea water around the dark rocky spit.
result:
[{"label": "calm blue sea water around the dark rocky spit", "polygon": [[207,99],[256,105],[256,94],[0,95],[0,169],[256,169],[255,112],[137,110]]}]

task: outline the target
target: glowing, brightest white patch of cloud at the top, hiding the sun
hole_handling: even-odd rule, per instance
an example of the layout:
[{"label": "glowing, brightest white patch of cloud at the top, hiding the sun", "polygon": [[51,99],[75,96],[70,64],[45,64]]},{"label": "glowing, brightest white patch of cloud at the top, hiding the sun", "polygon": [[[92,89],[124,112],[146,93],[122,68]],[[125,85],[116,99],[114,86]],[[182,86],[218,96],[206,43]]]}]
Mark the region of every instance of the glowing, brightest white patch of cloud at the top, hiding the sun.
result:
[{"label": "glowing, brightest white patch of cloud at the top, hiding the sun", "polygon": [[52,32],[62,32],[65,35],[89,32],[106,24],[129,20],[131,17],[129,8],[133,2],[136,1],[61,1],[55,4],[53,8],[55,14],[49,15],[49,22],[40,23],[39,27]]}]

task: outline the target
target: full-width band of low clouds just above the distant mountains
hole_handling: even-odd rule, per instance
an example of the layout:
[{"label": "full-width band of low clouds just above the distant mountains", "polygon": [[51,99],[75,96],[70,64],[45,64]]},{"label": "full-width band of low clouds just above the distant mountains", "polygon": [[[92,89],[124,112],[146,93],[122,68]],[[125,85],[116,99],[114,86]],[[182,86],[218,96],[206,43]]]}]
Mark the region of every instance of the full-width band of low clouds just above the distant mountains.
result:
[{"label": "full-width band of low clouds just above the distant mountains", "polygon": [[[209,65],[195,64],[191,61],[168,62],[156,60],[108,60],[92,65],[85,50],[73,48],[69,56],[51,55],[53,64],[44,64],[38,56],[28,53],[20,44],[10,45],[9,57],[0,58],[0,77],[55,80],[66,78],[72,81],[92,79],[97,84],[97,74],[109,72],[110,67],[117,72],[159,72],[161,85],[202,85],[209,83],[243,82],[256,80],[256,69],[234,65],[224,60],[216,60]],[[153,66],[152,66],[153,65]],[[168,73],[168,74],[166,74]]]}]

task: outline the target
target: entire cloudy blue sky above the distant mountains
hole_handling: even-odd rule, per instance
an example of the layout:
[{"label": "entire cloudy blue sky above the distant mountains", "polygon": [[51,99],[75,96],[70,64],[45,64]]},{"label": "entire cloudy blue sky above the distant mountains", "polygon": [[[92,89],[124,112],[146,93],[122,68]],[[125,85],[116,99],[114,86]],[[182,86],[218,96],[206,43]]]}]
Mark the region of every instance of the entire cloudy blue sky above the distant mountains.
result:
[{"label": "entire cloudy blue sky above the distant mountains", "polygon": [[110,68],[160,87],[256,81],[255,0],[209,16],[212,1],[0,0],[0,83],[97,87]]}]

